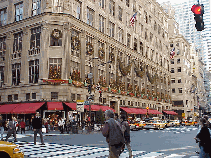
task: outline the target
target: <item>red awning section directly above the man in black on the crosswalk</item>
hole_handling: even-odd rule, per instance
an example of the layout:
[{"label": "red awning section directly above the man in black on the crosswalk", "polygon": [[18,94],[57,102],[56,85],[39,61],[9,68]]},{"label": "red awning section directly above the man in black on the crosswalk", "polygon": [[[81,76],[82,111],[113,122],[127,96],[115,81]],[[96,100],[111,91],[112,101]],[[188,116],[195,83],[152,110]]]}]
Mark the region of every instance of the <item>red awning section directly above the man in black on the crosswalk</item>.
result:
[{"label": "red awning section directly above the man in black on the crosswalk", "polygon": [[12,114],[33,114],[36,113],[45,102],[40,103],[21,103],[18,107],[12,110]]}]

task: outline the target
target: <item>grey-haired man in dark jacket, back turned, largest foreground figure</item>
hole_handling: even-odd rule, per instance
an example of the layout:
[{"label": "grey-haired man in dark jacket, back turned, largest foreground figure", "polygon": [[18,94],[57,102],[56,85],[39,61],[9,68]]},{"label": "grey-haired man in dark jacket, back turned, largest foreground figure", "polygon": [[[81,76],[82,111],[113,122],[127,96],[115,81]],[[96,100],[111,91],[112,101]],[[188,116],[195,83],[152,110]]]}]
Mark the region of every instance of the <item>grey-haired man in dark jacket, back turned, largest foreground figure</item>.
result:
[{"label": "grey-haired man in dark jacket, back turned, largest foreground figure", "polygon": [[101,130],[109,146],[109,158],[119,158],[122,147],[124,146],[124,136],[121,125],[118,121],[114,120],[112,110],[105,111],[105,118],[106,121]]}]

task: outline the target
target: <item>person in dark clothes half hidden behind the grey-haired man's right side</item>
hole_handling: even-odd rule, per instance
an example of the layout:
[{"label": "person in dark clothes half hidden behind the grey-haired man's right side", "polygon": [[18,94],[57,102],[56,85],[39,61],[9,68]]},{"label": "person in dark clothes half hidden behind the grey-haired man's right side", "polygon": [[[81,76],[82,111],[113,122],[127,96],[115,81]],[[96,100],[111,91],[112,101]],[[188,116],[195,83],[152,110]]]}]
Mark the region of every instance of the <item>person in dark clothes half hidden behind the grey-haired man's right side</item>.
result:
[{"label": "person in dark clothes half hidden behind the grey-haired man's right side", "polygon": [[130,126],[126,120],[126,117],[123,115],[121,116],[121,125],[125,128],[124,132],[124,138],[125,138],[125,144],[127,146],[127,149],[129,151],[129,158],[132,158],[132,150],[130,145]]}]

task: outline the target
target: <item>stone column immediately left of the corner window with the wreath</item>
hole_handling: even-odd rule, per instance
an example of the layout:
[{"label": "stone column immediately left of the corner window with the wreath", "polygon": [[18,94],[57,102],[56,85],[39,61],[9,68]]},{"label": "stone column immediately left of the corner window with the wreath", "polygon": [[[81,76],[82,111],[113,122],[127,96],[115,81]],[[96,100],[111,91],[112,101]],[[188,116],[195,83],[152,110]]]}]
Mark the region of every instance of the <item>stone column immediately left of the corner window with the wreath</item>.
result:
[{"label": "stone column immediately left of the corner window with the wreath", "polygon": [[50,29],[48,24],[44,23],[41,27],[39,82],[43,82],[42,79],[48,79],[48,48],[50,45],[49,39]]}]

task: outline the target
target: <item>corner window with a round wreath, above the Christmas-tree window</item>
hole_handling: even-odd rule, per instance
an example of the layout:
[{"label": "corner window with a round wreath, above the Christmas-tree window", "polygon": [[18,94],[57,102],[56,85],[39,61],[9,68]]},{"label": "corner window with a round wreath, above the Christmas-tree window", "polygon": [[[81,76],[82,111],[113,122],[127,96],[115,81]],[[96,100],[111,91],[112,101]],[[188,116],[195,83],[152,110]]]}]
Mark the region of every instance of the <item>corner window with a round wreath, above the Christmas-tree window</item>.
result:
[{"label": "corner window with a round wreath, above the Christmas-tree window", "polygon": [[62,32],[54,29],[51,33],[50,46],[62,46]]}]

